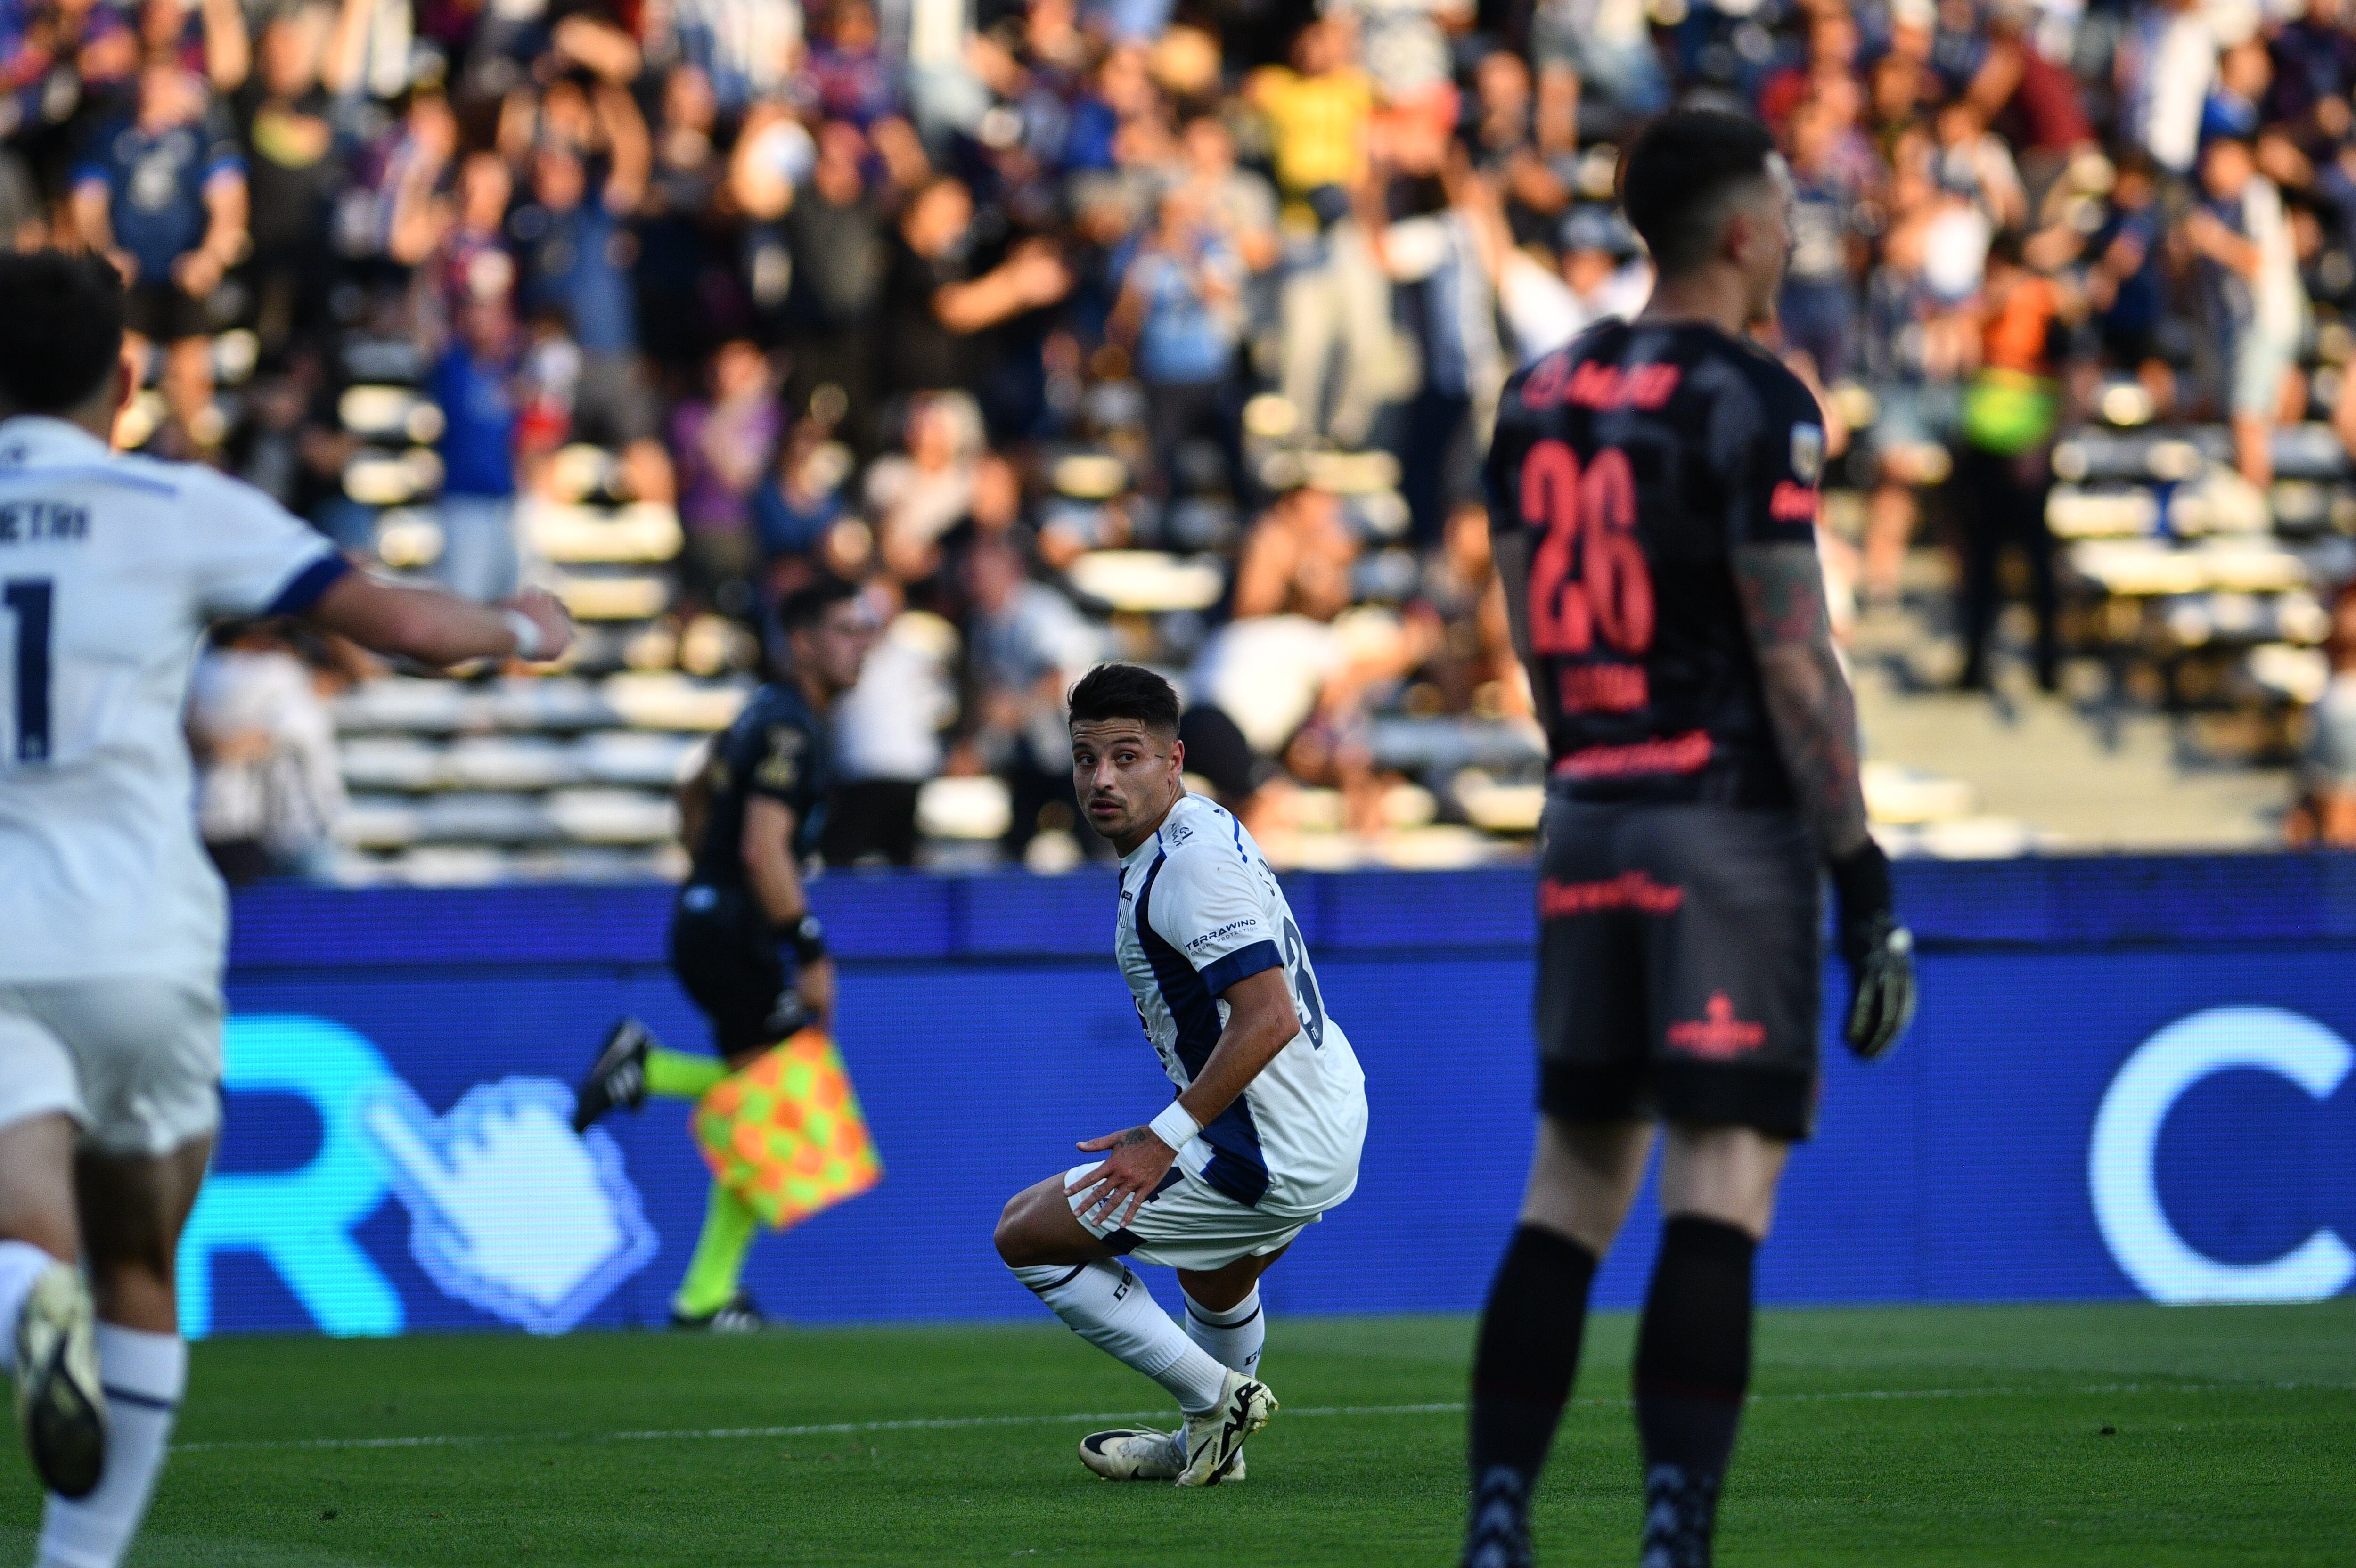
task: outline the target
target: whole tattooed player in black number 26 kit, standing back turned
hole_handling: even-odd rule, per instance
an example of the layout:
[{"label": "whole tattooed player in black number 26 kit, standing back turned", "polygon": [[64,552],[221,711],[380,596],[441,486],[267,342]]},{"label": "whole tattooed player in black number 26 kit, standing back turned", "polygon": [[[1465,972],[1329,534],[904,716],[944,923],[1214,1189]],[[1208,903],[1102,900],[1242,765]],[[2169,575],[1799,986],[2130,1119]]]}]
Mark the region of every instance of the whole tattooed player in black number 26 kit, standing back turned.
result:
[{"label": "whole tattooed player in black number 26 kit, standing back turned", "polygon": [[1890,1050],[1915,1001],[1824,610],[1824,414],[1743,337],[1783,275],[1788,172],[1765,127],[1673,113],[1630,151],[1621,200],[1652,301],[1508,381],[1487,471],[1553,777],[1538,1140],[1472,1361],[1465,1568],[1534,1561],[1529,1493],[1656,1125],[1642,1566],[1710,1561],[1751,1262],[1816,1107],[1824,873],[1849,1048]]}]

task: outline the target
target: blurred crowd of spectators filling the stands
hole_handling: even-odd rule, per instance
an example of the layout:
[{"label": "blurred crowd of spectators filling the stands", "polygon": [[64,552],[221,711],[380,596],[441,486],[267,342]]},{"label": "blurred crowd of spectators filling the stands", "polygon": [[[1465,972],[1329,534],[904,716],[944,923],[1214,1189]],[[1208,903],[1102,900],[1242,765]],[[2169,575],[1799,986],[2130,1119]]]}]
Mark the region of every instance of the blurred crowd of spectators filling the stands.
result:
[{"label": "blurred crowd of spectators filling the stands", "polygon": [[[1112,652],[1190,671],[1225,796],[1371,826],[1371,713],[1527,713],[1477,452],[1515,365],[1644,299],[1644,115],[1786,148],[1772,341],[1868,494],[1838,586],[1892,603],[1960,473],[1963,676],[2019,544],[2052,685],[2050,447],[2104,379],[2231,424],[2259,487],[2276,426],[2356,436],[2302,370],[2356,292],[2344,7],[0,0],[0,231],[123,271],[151,450],[356,549],[344,351],[405,339],[462,591],[530,567],[568,443],[676,506],[679,619],[865,582],[909,624],[848,709],[843,857],[912,855],[942,770],[1006,779],[1008,848],[1067,826],[1060,690]],[[1218,589],[1121,607],[1114,549]]]}]

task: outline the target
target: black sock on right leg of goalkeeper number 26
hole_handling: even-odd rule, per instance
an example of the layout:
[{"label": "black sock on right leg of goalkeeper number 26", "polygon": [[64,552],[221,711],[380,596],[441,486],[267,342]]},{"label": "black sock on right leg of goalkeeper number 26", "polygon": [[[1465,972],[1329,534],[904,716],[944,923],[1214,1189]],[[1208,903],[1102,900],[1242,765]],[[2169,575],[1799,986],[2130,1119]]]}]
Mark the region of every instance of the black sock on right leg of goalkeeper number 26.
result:
[{"label": "black sock on right leg of goalkeeper number 26", "polygon": [[1751,1260],[1732,1224],[1677,1215],[1635,1337],[1635,1424],[1644,1439],[1642,1568],[1708,1568],[1718,1488],[1751,1387]]}]

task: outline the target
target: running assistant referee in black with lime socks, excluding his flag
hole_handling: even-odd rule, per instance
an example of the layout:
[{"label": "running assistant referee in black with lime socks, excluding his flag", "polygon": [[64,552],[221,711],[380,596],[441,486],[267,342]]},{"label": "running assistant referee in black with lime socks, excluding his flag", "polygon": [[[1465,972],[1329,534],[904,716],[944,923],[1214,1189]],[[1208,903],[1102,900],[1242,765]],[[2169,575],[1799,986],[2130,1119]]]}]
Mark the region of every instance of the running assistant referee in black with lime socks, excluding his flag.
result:
[{"label": "running assistant referee in black with lime socks, excluding his flag", "polygon": [[[858,589],[820,579],[777,605],[785,680],[763,685],[681,789],[681,841],[695,857],[671,909],[671,972],[712,1019],[716,1057],[667,1050],[624,1017],[605,1036],[573,1111],[587,1130],[648,1095],[695,1099],[787,1036],[834,1010],[834,965],[810,913],[801,864],[818,855],[834,786],[829,711],[848,692],[876,619]],[[719,1182],[688,1274],[671,1297],[676,1328],[759,1328],[737,1288],[756,1220]]]}]

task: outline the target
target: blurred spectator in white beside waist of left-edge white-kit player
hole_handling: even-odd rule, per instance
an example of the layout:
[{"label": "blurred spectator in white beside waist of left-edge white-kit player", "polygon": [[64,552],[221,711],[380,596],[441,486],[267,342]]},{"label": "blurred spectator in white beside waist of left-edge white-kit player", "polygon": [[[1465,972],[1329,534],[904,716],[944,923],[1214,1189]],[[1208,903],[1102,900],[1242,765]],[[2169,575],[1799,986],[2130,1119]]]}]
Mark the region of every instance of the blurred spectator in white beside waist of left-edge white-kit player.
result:
[{"label": "blurred spectator in white beside waist of left-edge white-kit player", "polygon": [[214,631],[188,683],[196,824],[231,883],[323,871],[344,777],[311,666],[269,626]]}]

